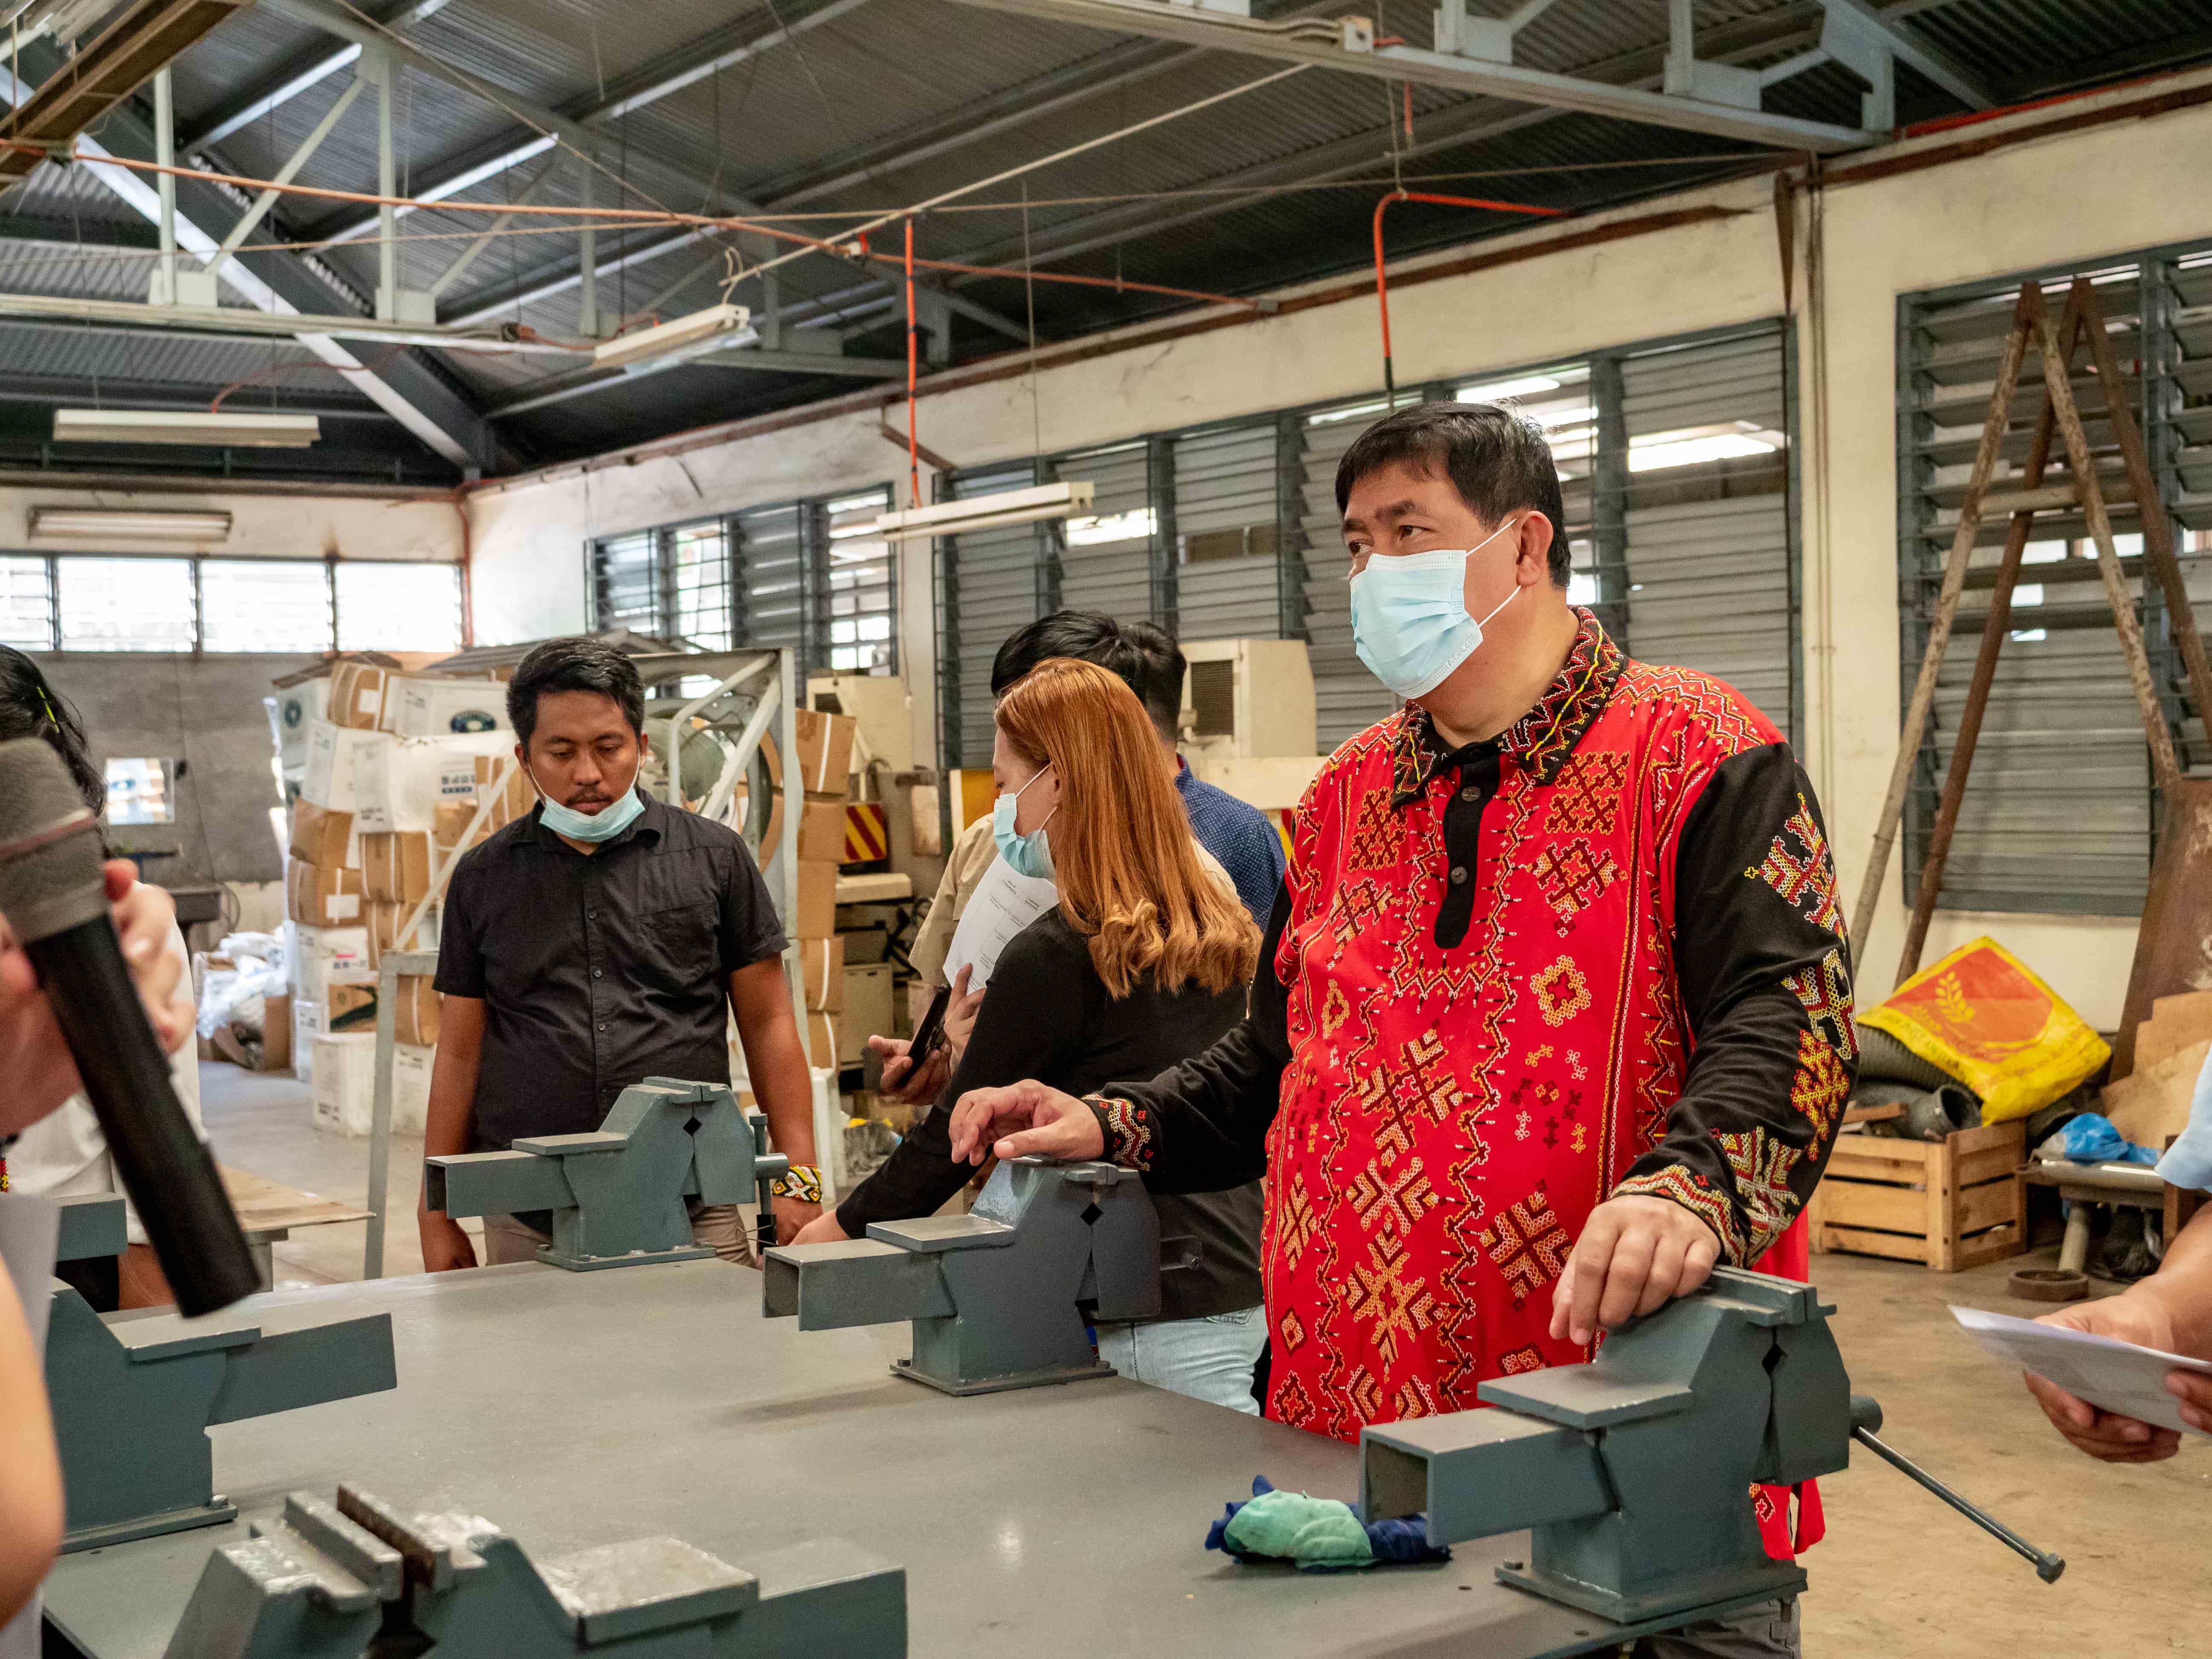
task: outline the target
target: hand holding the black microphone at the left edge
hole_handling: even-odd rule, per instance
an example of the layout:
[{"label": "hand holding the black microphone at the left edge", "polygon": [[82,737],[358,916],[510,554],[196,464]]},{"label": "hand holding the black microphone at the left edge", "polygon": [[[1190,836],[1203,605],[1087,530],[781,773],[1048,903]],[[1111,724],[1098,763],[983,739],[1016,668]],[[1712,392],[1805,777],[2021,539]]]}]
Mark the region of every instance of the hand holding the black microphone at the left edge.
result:
[{"label": "hand holding the black microphone at the left edge", "polygon": [[[146,1004],[153,1035],[164,1053],[175,1053],[192,1033],[192,1022],[177,1002],[184,969],[168,951],[168,929],[177,920],[177,902],[161,889],[137,878],[128,858],[104,865],[108,905],[124,962]],[[38,993],[38,973],[22,945],[0,918],[0,1135],[20,1135],[40,1117],[75,1095],[77,1062],[69,1057],[53,1009]]]}]

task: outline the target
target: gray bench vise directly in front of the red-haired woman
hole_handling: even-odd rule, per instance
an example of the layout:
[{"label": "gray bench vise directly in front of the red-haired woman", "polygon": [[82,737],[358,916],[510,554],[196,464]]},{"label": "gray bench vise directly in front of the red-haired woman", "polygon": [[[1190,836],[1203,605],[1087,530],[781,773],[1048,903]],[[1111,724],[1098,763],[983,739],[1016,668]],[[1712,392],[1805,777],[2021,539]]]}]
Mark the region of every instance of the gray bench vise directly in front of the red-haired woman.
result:
[{"label": "gray bench vise directly in front of the red-haired woman", "polygon": [[1077,1383],[1115,1371],[1091,1352],[1075,1305],[1152,1318],[1159,1256],[1159,1217],[1137,1175],[1018,1157],[991,1172],[969,1214],[770,1250],[761,1312],[807,1332],[909,1318],[914,1358],[891,1369],[947,1394]]}]

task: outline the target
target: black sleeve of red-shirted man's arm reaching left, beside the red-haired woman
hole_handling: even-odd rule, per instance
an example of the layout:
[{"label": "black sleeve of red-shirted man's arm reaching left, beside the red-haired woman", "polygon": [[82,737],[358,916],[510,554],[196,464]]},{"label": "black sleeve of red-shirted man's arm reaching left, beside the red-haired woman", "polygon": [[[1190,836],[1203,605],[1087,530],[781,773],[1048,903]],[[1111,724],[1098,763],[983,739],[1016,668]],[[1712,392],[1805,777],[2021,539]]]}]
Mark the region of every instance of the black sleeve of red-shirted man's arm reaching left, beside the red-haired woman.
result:
[{"label": "black sleeve of red-shirted man's arm reaching left, beside the red-haired woman", "polygon": [[1225,1192],[1267,1172],[1267,1126],[1290,1064],[1290,1000],[1274,975],[1287,925],[1290,889],[1276,887],[1252,1011],[1228,1035],[1148,1084],[1091,1097],[1106,1157],[1141,1170],[1152,1192]]}]

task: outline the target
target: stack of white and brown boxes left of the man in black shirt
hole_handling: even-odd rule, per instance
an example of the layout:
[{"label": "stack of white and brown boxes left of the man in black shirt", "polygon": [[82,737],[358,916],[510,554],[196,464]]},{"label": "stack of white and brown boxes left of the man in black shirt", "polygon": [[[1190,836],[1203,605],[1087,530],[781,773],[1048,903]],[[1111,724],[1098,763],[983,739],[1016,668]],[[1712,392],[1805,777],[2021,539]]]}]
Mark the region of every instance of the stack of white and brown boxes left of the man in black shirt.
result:
[{"label": "stack of white and brown boxes left of the man in black shirt", "polygon": [[[294,1073],[314,1082],[316,1124],[365,1135],[374,1091],[376,967],[422,911],[409,949],[436,949],[431,876],[495,794],[489,834],[529,810],[507,692],[493,679],[405,672],[416,664],[341,661],[327,679],[270,699],[292,801],[285,914],[292,922]],[[520,805],[515,805],[520,801]],[[400,980],[392,1126],[422,1133],[438,998]]]}]

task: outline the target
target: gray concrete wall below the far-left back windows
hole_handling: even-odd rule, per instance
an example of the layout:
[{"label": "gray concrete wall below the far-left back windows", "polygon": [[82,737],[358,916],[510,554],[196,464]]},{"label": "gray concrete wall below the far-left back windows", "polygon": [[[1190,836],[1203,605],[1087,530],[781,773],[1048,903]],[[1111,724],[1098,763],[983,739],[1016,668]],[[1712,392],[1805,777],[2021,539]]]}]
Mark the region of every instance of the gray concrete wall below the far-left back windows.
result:
[{"label": "gray concrete wall below the far-left back windows", "polygon": [[108,838],[137,852],[177,852],[150,863],[155,880],[188,872],[226,883],[283,878],[270,807],[281,805],[270,721],[270,679],[303,657],[204,657],[139,650],[42,655],[40,666],[84,719],[93,765],[111,757],[188,761],[175,787],[177,823],[115,825]]}]

